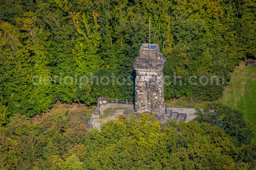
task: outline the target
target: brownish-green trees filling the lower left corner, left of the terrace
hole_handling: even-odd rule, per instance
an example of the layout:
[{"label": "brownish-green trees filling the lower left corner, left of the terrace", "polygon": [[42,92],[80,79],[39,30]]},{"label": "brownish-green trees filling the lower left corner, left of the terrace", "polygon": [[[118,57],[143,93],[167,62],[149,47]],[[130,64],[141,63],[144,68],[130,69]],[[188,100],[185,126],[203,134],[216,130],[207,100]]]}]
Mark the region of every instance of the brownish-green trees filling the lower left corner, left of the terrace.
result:
[{"label": "brownish-green trees filling the lower left corner, left of the terrace", "polygon": [[78,152],[66,153],[84,141],[88,114],[66,110],[60,105],[33,119],[14,115],[0,130],[1,169],[83,169]]}]

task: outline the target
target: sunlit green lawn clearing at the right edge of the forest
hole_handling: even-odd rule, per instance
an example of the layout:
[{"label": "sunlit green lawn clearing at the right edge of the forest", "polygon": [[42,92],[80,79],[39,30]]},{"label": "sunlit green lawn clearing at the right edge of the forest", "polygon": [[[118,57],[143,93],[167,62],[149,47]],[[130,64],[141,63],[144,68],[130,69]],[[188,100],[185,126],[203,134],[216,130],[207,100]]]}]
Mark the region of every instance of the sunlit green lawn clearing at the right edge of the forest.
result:
[{"label": "sunlit green lawn clearing at the right edge of the forest", "polygon": [[221,101],[241,110],[244,118],[252,123],[256,136],[256,67],[246,67],[244,62],[237,66],[231,73],[231,81],[225,87]]}]

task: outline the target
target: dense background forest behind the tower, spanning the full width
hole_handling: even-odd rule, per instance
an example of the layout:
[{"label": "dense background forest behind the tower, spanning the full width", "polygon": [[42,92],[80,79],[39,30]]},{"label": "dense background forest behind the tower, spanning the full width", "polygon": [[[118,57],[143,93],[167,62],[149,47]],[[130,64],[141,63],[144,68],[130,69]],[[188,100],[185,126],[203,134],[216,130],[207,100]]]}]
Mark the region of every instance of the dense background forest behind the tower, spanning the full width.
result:
[{"label": "dense background forest behind the tower, spanning the full width", "polygon": [[[255,9],[252,0],[1,1],[1,120],[46,112],[56,99],[133,99],[132,62],[149,41],[149,17],[151,43],[167,59],[165,99],[214,101],[234,66],[255,58]],[[173,83],[174,74],[181,84]],[[225,82],[191,86],[192,75]],[[92,79],[84,83],[82,76]],[[95,76],[114,78],[102,84]],[[129,81],[120,85],[118,78]]]}]

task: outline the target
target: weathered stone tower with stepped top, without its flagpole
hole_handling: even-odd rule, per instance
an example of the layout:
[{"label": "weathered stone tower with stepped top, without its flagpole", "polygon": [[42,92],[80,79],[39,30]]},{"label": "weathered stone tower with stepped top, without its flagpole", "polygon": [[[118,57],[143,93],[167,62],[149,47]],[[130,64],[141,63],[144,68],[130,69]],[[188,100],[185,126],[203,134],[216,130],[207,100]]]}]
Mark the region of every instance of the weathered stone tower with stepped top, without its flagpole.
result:
[{"label": "weathered stone tower with stepped top, without its flagpole", "polygon": [[158,44],[142,44],[138,57],[133,62],[136,70],[135,112],[155,113],[158,120],[163,120],[164,104],[163,68],[166,58],[160,53]]}]

